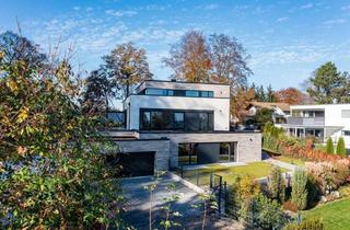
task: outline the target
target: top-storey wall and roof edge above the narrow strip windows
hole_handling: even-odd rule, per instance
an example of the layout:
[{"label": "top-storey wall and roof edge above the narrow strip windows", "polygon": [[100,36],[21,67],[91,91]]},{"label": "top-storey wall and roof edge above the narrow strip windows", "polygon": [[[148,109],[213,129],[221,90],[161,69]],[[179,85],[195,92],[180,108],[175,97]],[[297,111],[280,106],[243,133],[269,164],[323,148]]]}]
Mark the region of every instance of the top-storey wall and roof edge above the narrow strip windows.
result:
[{"label": "top-storey wall and roof edge above the narrow strip windows", "polygon": [[137,93],[147,88],[168,89],[168,90],[203,90],[213,91],[214,97],[230,97],[230,85],[228,84],[209,84],[209,83],[189,83],[172,81],[143,81],[137,89]]}]

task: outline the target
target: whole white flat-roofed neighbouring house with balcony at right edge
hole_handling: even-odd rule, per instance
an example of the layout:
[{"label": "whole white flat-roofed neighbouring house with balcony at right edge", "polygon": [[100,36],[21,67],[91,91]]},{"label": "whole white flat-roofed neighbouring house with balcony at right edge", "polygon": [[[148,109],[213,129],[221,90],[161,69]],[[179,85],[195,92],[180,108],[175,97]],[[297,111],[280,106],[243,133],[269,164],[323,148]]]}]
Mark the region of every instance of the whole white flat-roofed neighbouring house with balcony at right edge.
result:
[{"label": "whole white flat-roofed neighbouring house with balcony at right edge", "polygon": [[281,124],[285,133],[295,137],[316,137],[325,141],[331,137],[346,140],[350,150],[350,104],[292,105],[287,124]]}]

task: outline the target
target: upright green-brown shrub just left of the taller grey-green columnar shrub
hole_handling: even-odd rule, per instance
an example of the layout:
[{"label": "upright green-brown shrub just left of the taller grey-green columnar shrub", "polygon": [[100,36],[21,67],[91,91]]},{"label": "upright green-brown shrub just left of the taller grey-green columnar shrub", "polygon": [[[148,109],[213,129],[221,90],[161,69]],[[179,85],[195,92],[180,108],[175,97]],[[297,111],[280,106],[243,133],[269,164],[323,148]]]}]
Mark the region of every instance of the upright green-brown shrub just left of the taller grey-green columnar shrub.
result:
[{"label": "upright green-brown shrub just left of the taller grey-green columnar shrub", "polygon": [[269,175],[269,192],[271,198],[277,199],[279,203],[284,202],[285,182],[282,175],[282,170],[279,166],[273,166]]}]

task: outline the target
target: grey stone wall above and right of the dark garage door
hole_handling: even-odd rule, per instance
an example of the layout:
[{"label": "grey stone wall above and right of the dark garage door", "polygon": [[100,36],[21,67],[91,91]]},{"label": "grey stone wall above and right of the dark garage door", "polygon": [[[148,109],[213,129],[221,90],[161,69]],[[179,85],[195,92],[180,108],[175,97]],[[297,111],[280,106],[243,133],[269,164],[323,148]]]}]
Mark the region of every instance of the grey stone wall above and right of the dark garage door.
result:
[{"label": "grey stone wall above and right of the dark garage door", "polygon": [[168,170],[170,140],[116,140],[120,152],[155,152],[155,170]]}]

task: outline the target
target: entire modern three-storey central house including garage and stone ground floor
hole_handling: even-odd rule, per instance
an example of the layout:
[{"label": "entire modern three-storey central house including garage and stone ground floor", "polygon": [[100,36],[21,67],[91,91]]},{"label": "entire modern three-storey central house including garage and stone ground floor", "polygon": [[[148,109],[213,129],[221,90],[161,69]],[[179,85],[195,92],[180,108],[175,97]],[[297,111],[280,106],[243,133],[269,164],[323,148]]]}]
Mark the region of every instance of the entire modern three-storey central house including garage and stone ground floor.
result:
[{"label": "entire modern three-storey central house including garage and stone ground floor", "polygon": [[125,100],[124,113],[125,130],[106,134],[128,153],[121,160],[132,175],[261,160],[260,133],[230,131],[228,84],[147,80]]}]

